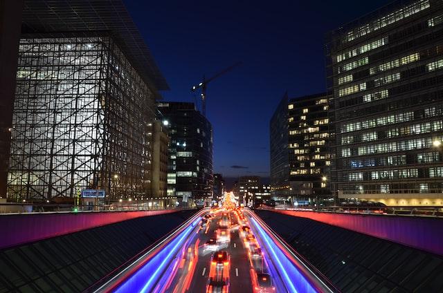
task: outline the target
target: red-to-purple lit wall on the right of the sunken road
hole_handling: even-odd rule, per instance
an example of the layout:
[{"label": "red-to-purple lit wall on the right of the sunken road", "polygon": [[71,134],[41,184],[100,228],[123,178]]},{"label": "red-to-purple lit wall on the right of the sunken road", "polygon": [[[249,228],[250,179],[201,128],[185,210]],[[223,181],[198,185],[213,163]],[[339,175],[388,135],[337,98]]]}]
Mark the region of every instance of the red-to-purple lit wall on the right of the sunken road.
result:
[{"label": "red-to-purple lit wall on the right of the sunken road", "polygon": [[275,212],[309,218],[321,223],[443,255],[442,218],[338,214],[318,211],[275,210]]}]

